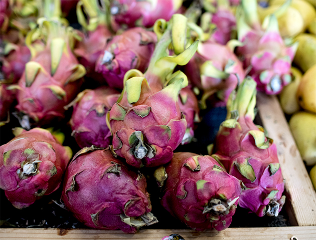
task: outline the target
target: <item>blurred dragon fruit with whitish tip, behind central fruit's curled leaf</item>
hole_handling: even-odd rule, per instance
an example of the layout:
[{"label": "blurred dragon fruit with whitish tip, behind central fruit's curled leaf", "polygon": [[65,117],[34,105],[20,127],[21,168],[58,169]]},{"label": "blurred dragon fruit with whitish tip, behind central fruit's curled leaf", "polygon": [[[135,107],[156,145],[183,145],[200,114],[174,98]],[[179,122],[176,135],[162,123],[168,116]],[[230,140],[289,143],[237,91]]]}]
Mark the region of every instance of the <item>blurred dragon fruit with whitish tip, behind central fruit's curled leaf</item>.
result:
[{"label": "blurred dragon fruit with whitish tip, behind central fruit's curled leaf", "polygon": [[123,89],[123,78],[128,70],[146,70],[155,43],[156,36],[150,31],[142,28],[127,30],[107,43],[95,70],[102,73],[110,87]]}]

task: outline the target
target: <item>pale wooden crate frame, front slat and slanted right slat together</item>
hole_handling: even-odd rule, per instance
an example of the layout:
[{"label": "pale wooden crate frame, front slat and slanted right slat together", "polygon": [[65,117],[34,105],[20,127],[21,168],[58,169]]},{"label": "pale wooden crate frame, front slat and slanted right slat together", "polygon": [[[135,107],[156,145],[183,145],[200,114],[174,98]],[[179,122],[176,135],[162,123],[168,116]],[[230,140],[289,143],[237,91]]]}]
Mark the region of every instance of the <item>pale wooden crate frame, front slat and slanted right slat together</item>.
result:
[{"label": "pale wooden crate frame, front slat and slanted right slat together", "polygon": [[[257,106],[262,124],[277,145],[278,157],[285,178],[285,209],[289,227],[227,228],[223,231],[198,232],[188,229],[140,229],[135,234],[121,230],[0,228],[0,238],[28,239],[143,239],[161,240],[178,233],[186,240],[247,239],[316,239],[316,192],[314,191],[295,141],[275,96],[258,93]],[[295,238],[296,237],[296,238]]]}]

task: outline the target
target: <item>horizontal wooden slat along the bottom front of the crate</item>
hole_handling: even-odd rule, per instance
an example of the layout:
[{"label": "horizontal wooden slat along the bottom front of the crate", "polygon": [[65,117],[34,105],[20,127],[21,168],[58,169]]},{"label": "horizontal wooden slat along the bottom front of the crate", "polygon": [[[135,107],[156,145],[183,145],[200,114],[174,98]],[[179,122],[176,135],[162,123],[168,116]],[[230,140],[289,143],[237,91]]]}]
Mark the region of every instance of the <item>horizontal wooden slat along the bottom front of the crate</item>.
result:
[{"label": "horizontal wooden slat along the bottom front of the crate", "polygon": [[315,240],[316,226],[290,227],[254,227],[254,228],[227,228],[223,231],[209,230],[197,232],[184,229],[143,229],[135,234],[123,233],[120,230],[96,229],[39,229],[39,228],[1,228],[0,238],[7,240],[34,240],[34,239],[133,239],[133,240],[161,240],[164,236],[177,233],[185,240],[277,240],[291,239]]}]

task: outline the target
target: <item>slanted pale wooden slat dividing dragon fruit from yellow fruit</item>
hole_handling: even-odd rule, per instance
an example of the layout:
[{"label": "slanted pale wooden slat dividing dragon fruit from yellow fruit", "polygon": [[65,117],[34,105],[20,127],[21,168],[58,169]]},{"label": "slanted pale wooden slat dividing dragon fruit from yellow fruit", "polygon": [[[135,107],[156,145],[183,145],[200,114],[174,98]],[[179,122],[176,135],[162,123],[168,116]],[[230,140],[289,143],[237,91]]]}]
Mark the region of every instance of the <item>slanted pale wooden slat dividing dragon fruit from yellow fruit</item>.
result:
[{"label": "slanted pale wooden slat dividing dragon fruit from yellow fruit", "polygon": [[[316,192],[299,154],[276,96],[257,94],[257,106],[264,128],[277,146],[290,201],[299,226],[316,225]],[[316,239],[316,237],[315,237]]]}]

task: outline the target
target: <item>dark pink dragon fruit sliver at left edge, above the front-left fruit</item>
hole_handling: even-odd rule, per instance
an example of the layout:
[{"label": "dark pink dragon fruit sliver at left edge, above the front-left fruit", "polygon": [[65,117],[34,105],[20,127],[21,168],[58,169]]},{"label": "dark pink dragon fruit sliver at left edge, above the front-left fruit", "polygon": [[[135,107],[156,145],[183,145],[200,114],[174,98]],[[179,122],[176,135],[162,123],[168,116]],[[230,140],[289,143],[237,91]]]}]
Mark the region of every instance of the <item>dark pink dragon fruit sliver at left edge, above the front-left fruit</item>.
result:
[{"label": "dark pink dragon fruit sliver at left edge, above the front-left fruit", "polygon": [[16,99],[16,90],[0,83],[0,127],[10,122],[10,108]]}]

